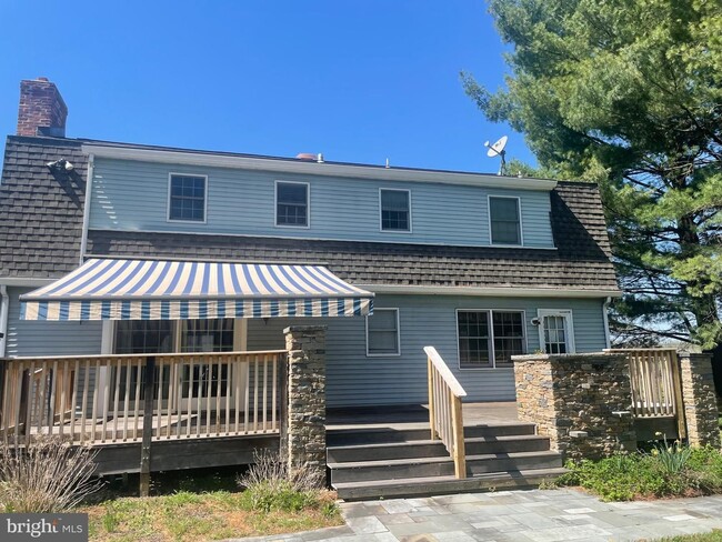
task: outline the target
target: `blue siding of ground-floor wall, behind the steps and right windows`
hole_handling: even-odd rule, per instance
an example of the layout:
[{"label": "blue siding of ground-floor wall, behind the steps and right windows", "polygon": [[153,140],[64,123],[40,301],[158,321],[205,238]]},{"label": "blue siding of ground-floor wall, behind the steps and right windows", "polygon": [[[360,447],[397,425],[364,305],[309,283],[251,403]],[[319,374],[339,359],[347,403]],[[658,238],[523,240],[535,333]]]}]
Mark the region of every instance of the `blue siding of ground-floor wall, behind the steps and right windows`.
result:
[{"label": "blue siding of ground-floor wall, behind the steps and right windows", "polygon": [[[531,319],[537,309],[571,309],[578,352],[606,347],[603,300],[501,299],[474,297],[378,295],[374,305],[399,308],[401,355],[368,358],[362,318],[324,319],[327,335],[327,393],[329,406],[425,403],[427,359],[423,347],[434,347],[461,385],[468,401],[513,401],[513,369],[459,369],[457,309],[525,311],[528,351],[539,349],[539,331]],[[321,319],[313,319],[318,323]],[[311,319],[249,321],[250,350],[284,348],[284,327]]]}]

